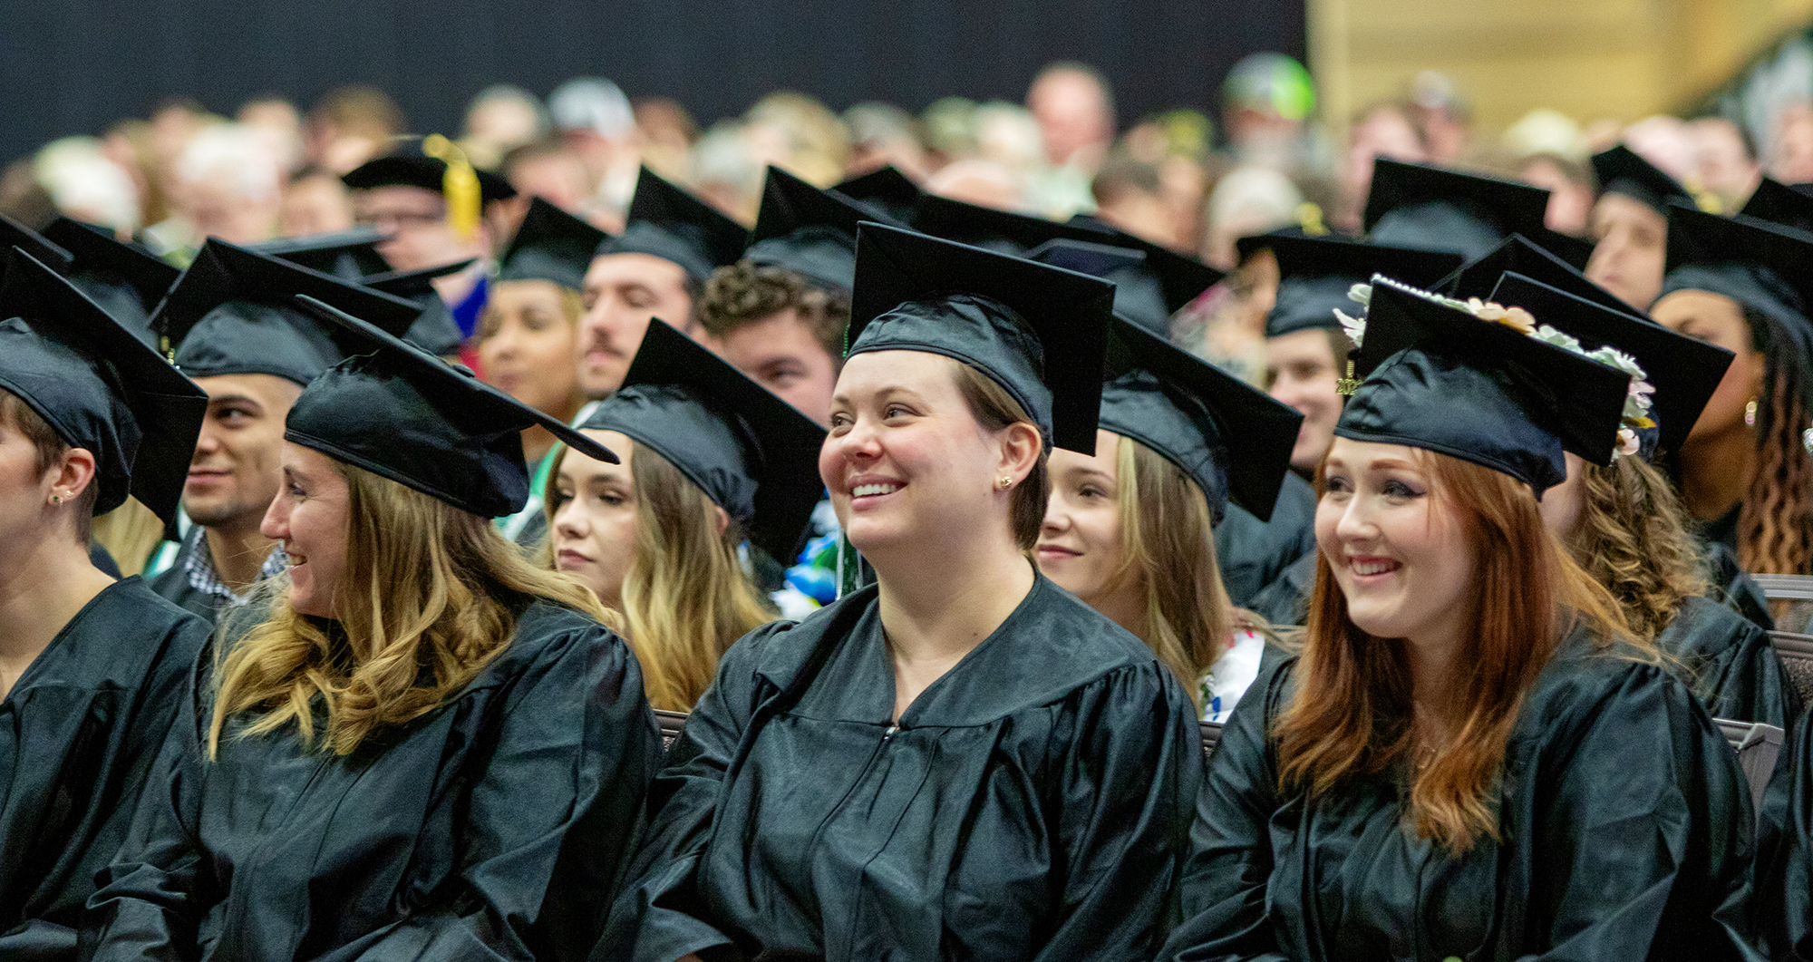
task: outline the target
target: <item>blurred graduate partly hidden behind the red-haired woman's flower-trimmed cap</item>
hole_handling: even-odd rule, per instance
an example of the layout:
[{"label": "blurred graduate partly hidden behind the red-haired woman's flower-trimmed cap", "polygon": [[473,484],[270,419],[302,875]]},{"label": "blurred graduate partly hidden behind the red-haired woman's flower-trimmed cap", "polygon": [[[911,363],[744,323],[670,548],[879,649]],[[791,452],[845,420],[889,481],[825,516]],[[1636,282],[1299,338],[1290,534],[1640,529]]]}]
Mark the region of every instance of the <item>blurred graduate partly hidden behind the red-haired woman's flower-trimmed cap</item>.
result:
[{"label": "blurred graduate partly hidden behind the red-haired woman's flower-trimmed cap", "polygon": [[[1229,521],[1215,530],[1224,559],[1271,555],[1287,563],[1282,570],[1276,561],[1246,563],[1238,570],[1231,570],[1233,563],[1222,564],[1229,592],[1273,624],[1302,624],[1316,584],[1316,490],[1309,479],[1334,441],[1334,419],[1342,414],[1334,383],[1347,368],[1349,352],[1334,310],[1351,310],[1347,290],[1374,272],[1425,285],[1461,265],[1459,254],[1445,250],[1298,234],[1260,234],[1235,243],[1242,260],[1271,250],[1278,261],[1278,294],[1265,314],[1265,390],[1296,408],[1304,427],[1291,448],[1291,476],[1284,479],[1271,521],[1260,526],[1244,512],[1227,512]],[[1247,546],[1253,541],[1276,543],[1278,550],[1255,552]]]}]

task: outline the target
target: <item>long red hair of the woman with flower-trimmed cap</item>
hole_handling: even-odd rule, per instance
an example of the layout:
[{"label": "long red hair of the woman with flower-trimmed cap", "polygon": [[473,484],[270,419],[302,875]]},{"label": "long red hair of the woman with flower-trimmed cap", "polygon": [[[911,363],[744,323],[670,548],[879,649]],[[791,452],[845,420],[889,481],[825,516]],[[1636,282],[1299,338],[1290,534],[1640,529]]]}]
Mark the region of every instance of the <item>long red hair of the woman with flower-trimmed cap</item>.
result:
[{"label": "long red hair of the woman with flower-trimmed cap", "polygon": [[[1450,737],[1427,766],[1411,764],[1418,731],[1409,643],[1362,632],[1318,552],[1296,692],[1275,728],[1280,788],[1318,797],[1401,766],[1409,826],[1461,853],[1481,835],[1499,839],[1494,795],[1505,744],[1525,695],[1575,624],[1585,623],[1601,648],[1626,639],[1634,652],[1661,657],[1628,637],[1617,603],[1548,532],[1528,486],[1458,457],[1416,454],[1430,497],[1459,515],[1474,550],[1474,623],[1465,633],[1472,648],[1469,670],[1452,679]],[[1325,483],[1318,468],[1316,486]]]}]

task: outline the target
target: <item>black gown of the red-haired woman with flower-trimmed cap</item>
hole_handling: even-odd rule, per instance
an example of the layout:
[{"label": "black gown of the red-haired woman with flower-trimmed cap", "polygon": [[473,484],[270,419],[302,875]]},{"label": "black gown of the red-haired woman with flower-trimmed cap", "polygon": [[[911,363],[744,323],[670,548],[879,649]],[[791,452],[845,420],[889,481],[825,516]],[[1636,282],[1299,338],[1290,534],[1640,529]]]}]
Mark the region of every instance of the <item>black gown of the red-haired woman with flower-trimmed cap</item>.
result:
[{"label": "black gown of the red-haired woman with flower-trimmed cap", "polygon": [[1280,797],[1271,719],[1294,661],[1249,692],[1209,762],[1168,962],[1760,958],[1737,757],[1664,668],[1570,637],[1519,712],[1503,842],[1463,857],[1403,828],[1401,773]]}]

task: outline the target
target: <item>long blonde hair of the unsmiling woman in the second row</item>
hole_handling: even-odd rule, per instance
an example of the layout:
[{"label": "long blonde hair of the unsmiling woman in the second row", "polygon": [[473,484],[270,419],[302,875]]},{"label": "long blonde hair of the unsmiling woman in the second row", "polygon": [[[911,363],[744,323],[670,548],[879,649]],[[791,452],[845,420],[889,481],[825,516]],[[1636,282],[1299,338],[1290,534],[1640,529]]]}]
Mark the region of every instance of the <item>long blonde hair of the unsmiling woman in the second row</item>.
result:
[{"label": "long blonde hair of the unsmiling woman in the second row", "polygon": [[[558,459],[542,499],[549,530],[564,503],[557,477]],[[780,614],[743,568],[742,528],[731,521],[720,534],[718,508],[698,485],[640,441],[631,441],[629,477],[636,555],[624,575],[624,632],[649,704],[691,712],[731,643]]]}]

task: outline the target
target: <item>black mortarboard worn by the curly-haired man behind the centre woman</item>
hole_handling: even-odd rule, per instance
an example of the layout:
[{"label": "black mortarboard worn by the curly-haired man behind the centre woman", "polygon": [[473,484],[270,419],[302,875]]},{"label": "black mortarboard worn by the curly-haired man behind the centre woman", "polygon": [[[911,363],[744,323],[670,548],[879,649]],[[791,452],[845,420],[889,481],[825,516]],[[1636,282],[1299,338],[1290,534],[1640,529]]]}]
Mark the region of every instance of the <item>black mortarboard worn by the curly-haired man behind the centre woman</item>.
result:
[{"label": "black mortarboard worn by the curly-haired man behind the centre woman", "polygon": [[848,290],[856,283],[856,225],[865,220],[896,223],[892,216],[877,216],[771,165],[743,260],[785,267],[821,287]]}]

